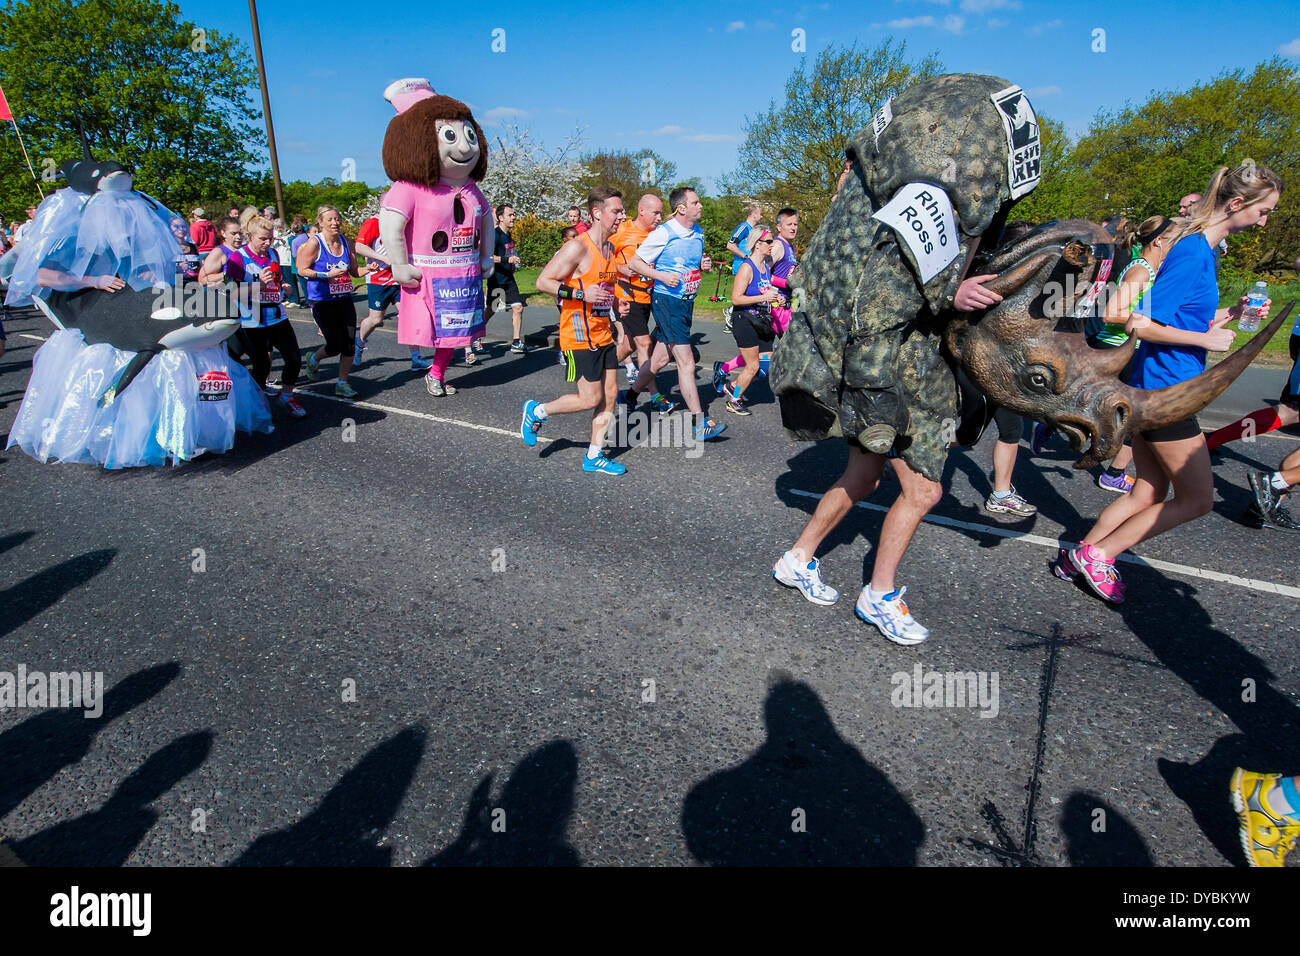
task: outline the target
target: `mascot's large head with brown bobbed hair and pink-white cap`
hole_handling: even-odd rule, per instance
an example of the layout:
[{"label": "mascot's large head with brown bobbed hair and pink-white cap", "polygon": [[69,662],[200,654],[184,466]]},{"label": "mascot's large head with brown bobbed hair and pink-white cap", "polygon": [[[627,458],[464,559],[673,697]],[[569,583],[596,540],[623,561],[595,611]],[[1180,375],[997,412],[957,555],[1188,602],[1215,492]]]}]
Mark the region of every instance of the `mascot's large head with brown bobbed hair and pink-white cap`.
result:
[{"label": "mascot's large head with brown bobbed hair and pink-white cap", "polygon": [[384,134],[384,172],[393,182],[432,189],[484,178],[488,140],[469,107],[434,92],[428,79],[399,79],[384,99],[398,111]]}]

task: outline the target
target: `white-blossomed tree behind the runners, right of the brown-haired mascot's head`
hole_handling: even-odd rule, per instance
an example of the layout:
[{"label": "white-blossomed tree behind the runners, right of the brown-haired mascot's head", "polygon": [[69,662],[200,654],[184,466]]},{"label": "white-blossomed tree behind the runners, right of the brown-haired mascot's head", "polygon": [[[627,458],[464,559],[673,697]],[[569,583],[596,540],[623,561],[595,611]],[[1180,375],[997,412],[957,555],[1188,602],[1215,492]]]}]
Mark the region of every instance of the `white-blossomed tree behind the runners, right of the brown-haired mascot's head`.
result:
[{"label": "white-blossomed tree behind the runners, right of the brown-haired mascot's head", "polygon": [[581,130],[573,130],[562,146],[549,150],[533,139],[526,126],[506,124],[488,147],[488,176],[478,186],[493,206],[510,203],[519,213],[563,219],[573,202],[585,195],[581,146]]}]

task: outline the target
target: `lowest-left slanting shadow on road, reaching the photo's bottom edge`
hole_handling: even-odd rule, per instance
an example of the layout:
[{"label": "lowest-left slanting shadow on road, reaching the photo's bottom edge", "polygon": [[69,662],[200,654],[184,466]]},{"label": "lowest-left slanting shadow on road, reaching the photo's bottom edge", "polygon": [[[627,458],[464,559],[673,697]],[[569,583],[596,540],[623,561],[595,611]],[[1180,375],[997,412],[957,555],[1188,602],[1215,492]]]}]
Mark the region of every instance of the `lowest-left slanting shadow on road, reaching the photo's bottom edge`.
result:
[{"label": "lowest-left slanting shadow on road, reaching the photo's bottom edge", "polygon": [[122,866],[153,827],[150,804],[192,774],[212,752],[212,732],[188,734],[157,750],[92,813],[13,842],[29,866]]}]

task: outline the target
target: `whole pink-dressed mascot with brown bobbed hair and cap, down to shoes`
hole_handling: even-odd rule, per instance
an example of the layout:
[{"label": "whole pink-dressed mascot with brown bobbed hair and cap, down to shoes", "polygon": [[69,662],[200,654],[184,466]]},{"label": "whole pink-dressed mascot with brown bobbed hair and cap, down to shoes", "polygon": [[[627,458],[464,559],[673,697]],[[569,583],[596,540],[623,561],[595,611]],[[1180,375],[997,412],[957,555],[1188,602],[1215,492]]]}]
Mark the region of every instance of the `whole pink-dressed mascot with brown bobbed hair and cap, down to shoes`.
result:
[{"label": "whole pink-dressed mascot with brown bobbed hair and cap, down to shoes", "polygon": [[478,190],[488,144],[469,107],[439,96],[428,79],[399,79],[384,98],[398,111],[384,135],[393,186],[380,209],[380,238],[402,284],[398,342],[434,349],[424,384],[430,395],[450,395],[452,352],[484,334],[494,239]]}]

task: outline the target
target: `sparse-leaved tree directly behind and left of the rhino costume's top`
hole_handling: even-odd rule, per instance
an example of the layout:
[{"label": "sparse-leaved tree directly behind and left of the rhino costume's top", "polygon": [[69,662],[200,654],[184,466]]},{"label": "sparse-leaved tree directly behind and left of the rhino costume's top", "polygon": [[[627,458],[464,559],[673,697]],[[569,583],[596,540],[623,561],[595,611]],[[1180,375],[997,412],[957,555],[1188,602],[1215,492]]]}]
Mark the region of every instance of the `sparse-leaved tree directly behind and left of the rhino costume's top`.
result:
[{"label": "sparse-leaved tree directly behind and left of the rhino costume's top", "polygon": [[725,187],[766,206],[800,211],[811,235],[826,215],[844,168],[844,148],[890,96],[942,69],[931,55],[916,62],[907,44],[887,38],[875,49],[828,47],[811,70],[807,57],[785,81],[785,103],[746,117],[740,164]]}]

